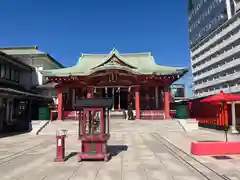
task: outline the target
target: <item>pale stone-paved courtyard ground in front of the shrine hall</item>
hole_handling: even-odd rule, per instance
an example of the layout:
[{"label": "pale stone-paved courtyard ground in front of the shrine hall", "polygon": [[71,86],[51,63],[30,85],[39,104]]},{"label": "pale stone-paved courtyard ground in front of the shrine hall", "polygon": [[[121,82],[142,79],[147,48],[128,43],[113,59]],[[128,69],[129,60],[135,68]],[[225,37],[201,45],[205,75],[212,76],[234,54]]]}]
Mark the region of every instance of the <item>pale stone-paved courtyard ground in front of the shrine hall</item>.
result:
[{"label": "pale stone-paved courtyard ground in front of the shrine hall", "polygon": [[[174,148],[170,150],[166,146],[166,141],[156,138],[157,135],[160,139],[164,137],[172,143],[176,141],[174,144],[187,150],[188,139],[207,136],[213,132],[206,133],[199,130],[195,133],[186,133],[167,129],[165,127],[167,125],[159,121],[112,121],[109,146],[113,157],[107,163],[77,162],[76,152],[79,151],[80,144],[74,133],[66,139],[66,154],[71,156],[68,156],[69,159],[64,163],[53,162],[56,151],[55,129],[52,129],[53,135],[36,136],[29,133],[2,138],[0,139],[0,179],[200,180],[207,179],[205,175],[214,180],[224,179],[184,153],[177,152]],[[73,123],[72,127],[68,126],[68,128],[74,129],[76,126]],[[197,136],[197,133],[205,134]],[[232,138],[238,139],[238,137]],[[181,159],[180,155],[184,158]],[[203,175],[189,165],[188,160],[191,161],[190,164],[195,164]],[[221,164],[222,169],[215,169],[220,175],[224,173],[229,179],[240,179],[238,156],[233,156],[233,159],[224,162],[216,161],[212,157],[198,157],[197,160],[203,163],[205,161],[209,166]]]}]

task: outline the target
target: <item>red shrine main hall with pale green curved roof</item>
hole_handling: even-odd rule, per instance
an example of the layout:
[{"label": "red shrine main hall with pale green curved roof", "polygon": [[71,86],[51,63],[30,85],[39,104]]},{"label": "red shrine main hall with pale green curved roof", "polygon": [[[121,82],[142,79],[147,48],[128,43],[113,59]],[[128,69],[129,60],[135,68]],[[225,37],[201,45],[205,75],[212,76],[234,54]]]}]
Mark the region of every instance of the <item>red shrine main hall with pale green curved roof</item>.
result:
[{"label": "red shrine main hall with pale green curved roof", "polygon": [[111,112],[125,112],[132,103],[136,119],[169,119],[170,86],[187,68],[161,66],[151,53],[82,54],[72,67],[43,70],[57,88],[57,119],[77,116],[74,104],[84,98],[113,99]]}]

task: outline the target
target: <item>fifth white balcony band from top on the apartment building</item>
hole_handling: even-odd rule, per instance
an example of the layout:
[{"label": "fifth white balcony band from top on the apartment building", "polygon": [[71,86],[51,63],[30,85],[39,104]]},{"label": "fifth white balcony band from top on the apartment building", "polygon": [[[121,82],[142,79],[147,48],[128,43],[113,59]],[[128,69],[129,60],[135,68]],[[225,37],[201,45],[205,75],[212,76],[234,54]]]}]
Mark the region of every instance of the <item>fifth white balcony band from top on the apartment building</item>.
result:
[{"label": "fifth white balcony band from top on the apartment building", "polygon": [[203,89],[203,88],[207,88],[210,86],[215,86],[217,84],[222,84],[227,81],[233,81],[235,79],[238,79],[239,77],[240,77],[240,72],[236,72],[234,74],[228,74],[224,77],[220,77],[220,78],[214,79],[212,81],[207,81],[202,84],[195,85],[194,90]]}]

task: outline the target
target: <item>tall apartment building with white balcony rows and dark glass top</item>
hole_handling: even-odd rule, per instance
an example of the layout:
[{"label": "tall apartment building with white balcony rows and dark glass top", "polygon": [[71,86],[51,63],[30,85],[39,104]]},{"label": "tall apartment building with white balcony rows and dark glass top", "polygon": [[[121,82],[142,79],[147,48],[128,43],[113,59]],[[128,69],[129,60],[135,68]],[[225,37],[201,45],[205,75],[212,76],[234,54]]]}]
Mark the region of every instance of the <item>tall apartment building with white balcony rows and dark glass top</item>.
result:
[{"label": "tall apartment building with white balcony rows and dark glass top", "polygon": [[240,92],[240,0],[190,0],[194,97]]}]

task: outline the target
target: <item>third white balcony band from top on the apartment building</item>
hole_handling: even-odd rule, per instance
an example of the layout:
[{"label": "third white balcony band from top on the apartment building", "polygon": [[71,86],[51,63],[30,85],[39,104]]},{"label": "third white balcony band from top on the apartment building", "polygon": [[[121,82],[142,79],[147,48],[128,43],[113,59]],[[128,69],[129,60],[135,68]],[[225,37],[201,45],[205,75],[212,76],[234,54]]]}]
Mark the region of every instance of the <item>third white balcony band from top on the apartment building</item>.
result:
[{"label": "third white balcony band from top on the apartment building", "polygon": [[234,48],[224,52],[223,54],[218,55],[217,57],[207,61],[206,63],[204,63],[204,64],[202,64],[202,65],[200,65],[200,66],[198,66],[196,68],[193,68],[192,71],[193,71],[193,73],[196,73],[196,72],[198,72],[200,70],[203,70],[203,69],[205,69],[205,68],[207,68],[207,67],[209,67],[209,66],[211,66],[211,65],[213,65],[213,64],[215,64],[217,62],[220,62],[221,60],[223,60],[223,59],[225,59],[225,58],[227,58],[229,56],[232,56],[232,55],[238,53],[239,49],[240,49],[240,45],[235,46]]}]

